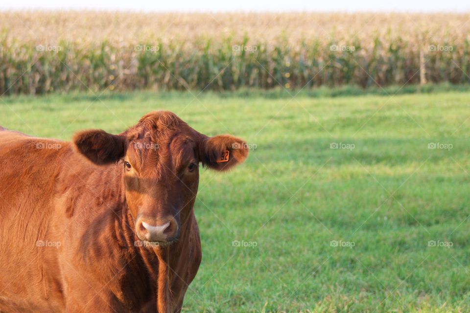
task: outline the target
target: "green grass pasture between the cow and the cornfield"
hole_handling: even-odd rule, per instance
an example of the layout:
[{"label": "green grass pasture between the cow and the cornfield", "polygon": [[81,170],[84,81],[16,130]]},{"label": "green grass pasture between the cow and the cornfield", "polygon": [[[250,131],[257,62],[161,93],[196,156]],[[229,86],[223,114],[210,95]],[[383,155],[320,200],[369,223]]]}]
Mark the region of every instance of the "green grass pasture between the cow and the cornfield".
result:
[{"label": "green grass pasture between the cow and the cornfield", "polygon": [[3,98],[0,125],[69,139],[165,109],[256,145],[201,173],[185,312],[470,312],[469,92],[99,98]]}]

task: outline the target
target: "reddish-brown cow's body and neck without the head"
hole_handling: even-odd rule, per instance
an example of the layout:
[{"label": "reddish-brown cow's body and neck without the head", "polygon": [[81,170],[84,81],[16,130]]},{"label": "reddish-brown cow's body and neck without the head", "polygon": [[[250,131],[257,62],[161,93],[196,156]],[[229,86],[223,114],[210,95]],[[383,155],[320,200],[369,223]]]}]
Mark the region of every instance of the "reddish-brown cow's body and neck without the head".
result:
[{"label": "reddish-brown cow's body and neck without the head", "polygon": [[194,200],[177,241],[141,241],[126,175],[73,142],[0,131],[0,312],[180,312],[202,257]]}]

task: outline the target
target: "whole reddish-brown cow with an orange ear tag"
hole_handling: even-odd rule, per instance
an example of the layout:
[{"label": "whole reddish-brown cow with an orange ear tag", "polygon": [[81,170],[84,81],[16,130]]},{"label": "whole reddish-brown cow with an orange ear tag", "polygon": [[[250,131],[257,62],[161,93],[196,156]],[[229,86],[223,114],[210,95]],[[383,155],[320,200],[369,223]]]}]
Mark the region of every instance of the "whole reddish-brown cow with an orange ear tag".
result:
[{"label": "whole reddish-brown cow with an orange ear tag", "polygon": [[0,312],[180,312],[201,261],[199,163],[247,157],[171,112],[72,143],[0,131]]}]

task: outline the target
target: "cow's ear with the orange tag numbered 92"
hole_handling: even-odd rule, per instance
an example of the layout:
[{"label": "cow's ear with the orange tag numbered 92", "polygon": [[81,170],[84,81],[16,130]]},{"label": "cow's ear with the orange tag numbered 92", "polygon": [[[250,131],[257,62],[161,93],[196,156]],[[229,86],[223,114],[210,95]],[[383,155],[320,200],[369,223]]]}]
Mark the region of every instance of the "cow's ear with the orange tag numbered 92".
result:
[{"label": "cow's ear with the orange tag numbered 92", "polygon": [[241,164],[247,156],[246,142],[232,135],[203,136],[199,145],[201,162],[216,171],[226,171]]}]

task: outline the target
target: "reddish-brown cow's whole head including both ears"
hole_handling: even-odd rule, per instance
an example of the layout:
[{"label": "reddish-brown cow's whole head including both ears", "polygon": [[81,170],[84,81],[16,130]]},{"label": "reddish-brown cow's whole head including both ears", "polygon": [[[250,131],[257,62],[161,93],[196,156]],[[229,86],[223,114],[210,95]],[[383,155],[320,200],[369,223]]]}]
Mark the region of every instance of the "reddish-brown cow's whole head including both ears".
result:
[{"label": "reddish-brown cow's whole head including both ears", "polygon": [[119,163],[135,232],[160,245],[179,238],[194,205],[199,164],[225,171],[248,156],[243,140],[200,134],[171,112],[151,112],[119,135],[83,131],[73,142],[95,164]]}]

